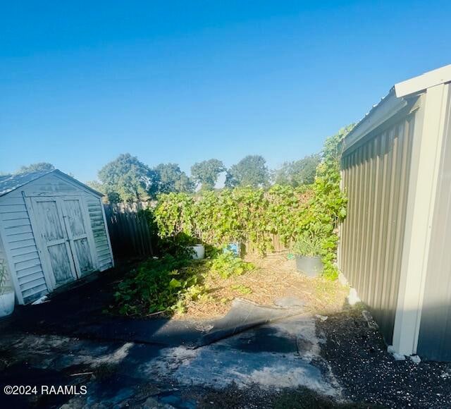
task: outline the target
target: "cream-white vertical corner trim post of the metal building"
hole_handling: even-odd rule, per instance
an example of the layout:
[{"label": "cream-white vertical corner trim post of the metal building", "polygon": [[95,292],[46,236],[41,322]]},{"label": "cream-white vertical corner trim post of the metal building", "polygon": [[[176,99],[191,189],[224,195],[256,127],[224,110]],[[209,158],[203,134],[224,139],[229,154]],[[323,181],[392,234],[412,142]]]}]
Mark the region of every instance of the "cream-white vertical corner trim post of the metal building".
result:
[{"label": "cream-white vertical corner trim post of the metal building", "polygon": [[419,336],[448,92],[448,85],[428,88],[422,122],[416,123],[393,332],[393,346],[404,355],[416,353]]}]

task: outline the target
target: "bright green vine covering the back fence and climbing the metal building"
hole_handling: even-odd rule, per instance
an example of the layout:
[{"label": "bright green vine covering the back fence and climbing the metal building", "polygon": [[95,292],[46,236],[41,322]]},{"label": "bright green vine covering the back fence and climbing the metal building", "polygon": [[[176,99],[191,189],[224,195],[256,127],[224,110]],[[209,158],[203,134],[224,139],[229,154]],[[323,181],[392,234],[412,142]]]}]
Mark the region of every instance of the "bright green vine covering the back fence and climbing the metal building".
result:
[{"label": "bright green vine covering the back fence and climbing the metal building", "polygon": [[347,207],[340,190],[340,142],[351,129],[343,128],[326,140],[313,185],[160,195],[154,211],[159,236],[164,240],[194,237],[214,246],[250,240],[264,255],[273,250],[273,235],[289,245],[308,234],[316,241],[323,274],[335,279],[338,224]]}]

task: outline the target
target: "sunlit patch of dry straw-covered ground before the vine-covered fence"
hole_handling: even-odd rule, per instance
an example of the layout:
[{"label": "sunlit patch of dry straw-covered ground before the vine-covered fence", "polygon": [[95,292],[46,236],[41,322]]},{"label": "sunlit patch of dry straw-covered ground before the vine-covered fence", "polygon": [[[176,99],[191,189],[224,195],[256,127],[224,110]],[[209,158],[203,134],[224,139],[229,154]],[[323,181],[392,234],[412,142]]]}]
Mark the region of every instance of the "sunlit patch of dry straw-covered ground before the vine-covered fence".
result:
[{"label": "sunlit patch of dry straw-covered ground before the vine-covered fence", "polygon": [[221,279],[214,274],[207,276],[205,284],[210,297],[202,302],[187,305],[187,312],[175,315],[175,319],[211,319],[225,315],[234,298],[242,298],[259,305],[273,305],[283,297],[296,297],[305,303],[306,312],[329,315],[342,310],[349,288],[338,281],[321,277],[311,279],[299,273],[295,260],[288,259],[288,252],[278,252],[261,258],[247,255],[256,269],[242,276]]}]

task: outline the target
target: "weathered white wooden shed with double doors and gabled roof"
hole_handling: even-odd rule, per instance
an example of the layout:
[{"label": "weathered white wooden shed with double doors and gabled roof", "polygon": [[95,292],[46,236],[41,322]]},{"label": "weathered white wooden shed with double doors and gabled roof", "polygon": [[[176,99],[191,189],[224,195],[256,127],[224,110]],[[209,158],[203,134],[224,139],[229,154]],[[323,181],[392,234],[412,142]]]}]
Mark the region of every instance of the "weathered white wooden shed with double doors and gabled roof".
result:
[{"label": "weathered white wooden shed with double doors and gabled roof", "polygon": [[101,197],[58,170],[0,177],[0,264],[16,303],[113,267]]}]

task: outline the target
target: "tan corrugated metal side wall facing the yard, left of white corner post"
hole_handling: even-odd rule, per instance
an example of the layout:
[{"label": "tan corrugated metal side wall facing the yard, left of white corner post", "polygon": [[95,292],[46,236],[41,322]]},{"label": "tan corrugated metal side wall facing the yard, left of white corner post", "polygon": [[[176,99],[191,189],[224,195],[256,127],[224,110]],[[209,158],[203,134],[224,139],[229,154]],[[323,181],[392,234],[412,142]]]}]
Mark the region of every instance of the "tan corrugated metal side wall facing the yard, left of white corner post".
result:
[{"label": "tan corrugated metal side wall facing the yard, left of white corner post", "polygon": [[348,202],[339,267],[392,342],[415,114],[344,152]]}]

